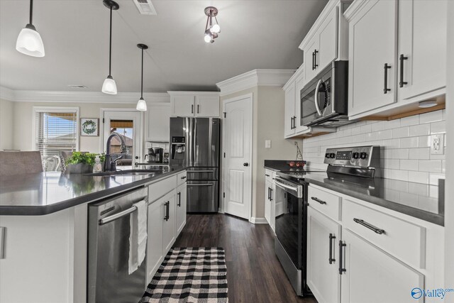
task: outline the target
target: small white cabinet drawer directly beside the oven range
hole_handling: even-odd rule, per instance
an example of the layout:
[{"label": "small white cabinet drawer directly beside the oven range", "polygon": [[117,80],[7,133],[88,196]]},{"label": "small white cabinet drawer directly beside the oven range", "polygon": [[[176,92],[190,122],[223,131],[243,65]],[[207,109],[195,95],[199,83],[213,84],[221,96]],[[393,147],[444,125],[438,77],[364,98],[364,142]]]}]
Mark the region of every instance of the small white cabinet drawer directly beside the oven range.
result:
[{"label": "small white cabinet drawer directly beside the oven range", "polygon": [[341,219],[341,197],[309,185],[307,201],[322,214],[334,220]]}]

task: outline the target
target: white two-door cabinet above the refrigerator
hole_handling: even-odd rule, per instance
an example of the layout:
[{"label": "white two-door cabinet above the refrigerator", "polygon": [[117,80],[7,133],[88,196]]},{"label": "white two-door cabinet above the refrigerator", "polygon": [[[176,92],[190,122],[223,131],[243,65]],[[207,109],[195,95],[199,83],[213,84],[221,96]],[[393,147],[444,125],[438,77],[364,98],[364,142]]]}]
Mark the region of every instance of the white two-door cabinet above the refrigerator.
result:
[{"label": "white two-door cabinet above the refrigerator", "polygon": [[171,116],[219,117],[218,92],[168,92]]}]

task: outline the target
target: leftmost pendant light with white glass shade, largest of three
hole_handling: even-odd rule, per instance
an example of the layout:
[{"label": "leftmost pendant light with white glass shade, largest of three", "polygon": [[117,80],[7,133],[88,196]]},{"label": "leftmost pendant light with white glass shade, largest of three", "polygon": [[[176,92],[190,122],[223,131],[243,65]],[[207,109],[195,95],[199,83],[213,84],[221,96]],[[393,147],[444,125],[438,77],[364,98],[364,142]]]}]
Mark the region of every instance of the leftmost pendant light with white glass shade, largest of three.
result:
[{"label": "leftmost pendant light with white glass shade, largest of three", "polygon": [[32,57],[44,57],[44,44],[40,33],[36,31],[32,24],[33,20],[33,0],[30,0],[30,22],[22,28],[16,41],[16,50],[19,53]]}]

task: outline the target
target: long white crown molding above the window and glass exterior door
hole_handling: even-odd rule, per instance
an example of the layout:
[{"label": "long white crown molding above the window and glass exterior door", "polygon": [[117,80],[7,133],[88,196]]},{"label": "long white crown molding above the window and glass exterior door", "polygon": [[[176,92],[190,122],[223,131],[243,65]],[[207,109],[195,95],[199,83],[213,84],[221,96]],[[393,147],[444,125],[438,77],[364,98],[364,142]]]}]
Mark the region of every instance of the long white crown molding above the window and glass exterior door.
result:
[{"label": "long white crown molding above the window and glass exterior door", "polygon": [[[0,87],[0,99],[16,102],[58,102],[58,103],[108,103],[108,104],[135,104],[139,94],[136,92],[120,92],[116,95],[102,92],[65,92],[65,91],[31,91],[13,90]],[[167,93],[143,93],[148,103],[169,103]]]}]

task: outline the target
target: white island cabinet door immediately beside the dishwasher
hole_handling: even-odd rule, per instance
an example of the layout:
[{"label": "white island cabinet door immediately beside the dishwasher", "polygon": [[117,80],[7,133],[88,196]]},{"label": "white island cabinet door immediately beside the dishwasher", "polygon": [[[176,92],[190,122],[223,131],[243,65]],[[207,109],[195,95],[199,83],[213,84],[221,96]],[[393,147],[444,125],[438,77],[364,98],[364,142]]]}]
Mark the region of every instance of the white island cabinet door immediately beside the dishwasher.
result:
[{"label": "white island cabinet door immediately beside the dishwasher", "polygon": [[162,199],[148,205],[148,241],[147,241],[147,281],[153,279],[153,275],[159,268],[162,255],[162,218],[164,218],[164,202]]}]

